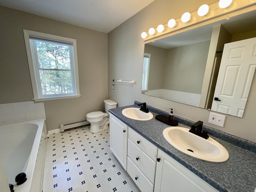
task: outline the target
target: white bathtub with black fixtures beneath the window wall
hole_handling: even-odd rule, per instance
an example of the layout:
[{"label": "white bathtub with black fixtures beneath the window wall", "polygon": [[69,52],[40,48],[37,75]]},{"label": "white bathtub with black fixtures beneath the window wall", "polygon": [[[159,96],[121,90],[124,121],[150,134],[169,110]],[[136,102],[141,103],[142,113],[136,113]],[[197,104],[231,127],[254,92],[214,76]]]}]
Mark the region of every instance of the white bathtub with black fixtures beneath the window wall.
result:
[{"label": "white bathtub with black fixtures beneath the window wall", "polygon": [[[46,149],[44,122],[43,118],[0,126],[0,158],[15,192],[32,192],[31,188],[38,185],[41,188]],[[40,163],[36,163],[38,160]],[[26,173],[27,180],[17,186],[15,177],[21,172]]]}]

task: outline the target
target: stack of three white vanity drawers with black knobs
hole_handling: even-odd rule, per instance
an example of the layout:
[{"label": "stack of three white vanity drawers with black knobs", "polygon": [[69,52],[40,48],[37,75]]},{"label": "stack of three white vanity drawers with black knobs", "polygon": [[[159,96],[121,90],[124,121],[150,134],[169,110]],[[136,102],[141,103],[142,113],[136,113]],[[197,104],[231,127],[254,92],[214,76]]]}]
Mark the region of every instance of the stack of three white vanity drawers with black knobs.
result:
[{"label": "stack of three white vanity drawers with black knobs", "polygon": [[128,128],[127,172],[142,192],[154,191],[158,148]]}]

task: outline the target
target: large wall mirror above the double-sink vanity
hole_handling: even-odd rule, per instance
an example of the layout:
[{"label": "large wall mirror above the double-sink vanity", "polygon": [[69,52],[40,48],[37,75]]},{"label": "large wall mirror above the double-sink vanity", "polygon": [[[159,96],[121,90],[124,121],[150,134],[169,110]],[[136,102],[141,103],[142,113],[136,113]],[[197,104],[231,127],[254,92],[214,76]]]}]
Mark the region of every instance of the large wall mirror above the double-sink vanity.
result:
[{"label": "large wall mirror above the double-sink vanity", "polygon": [[[238,107],[237,112],[231,112],[230,107],[224,104],[225,99],[220,99],[221,94],[216,95],[214,92],[219,69],[226,74],[224,78],[233,78],[226,87],[238,81],[236,74],[240,68],[229,68],[228,73],[222,67],[224,44],[226,46],[230,42],[256,37],[255,23],[256,10],[146,43],[142,94],[206,109],[217,105],[212,110],[242,117],[244,108]],[[242,50],[236,53],[239,51],[242,54]],[[254,76],[256,50],[250,65],[250,72],[242,77],[245,81],[252,81]],[[239,89],[246,89],[248,96],[250,82],[246,86]],[[226,90],[226,93],[232,91],[234,90]],[[246,103],[247,98],[244,97],[243,100]]]}]

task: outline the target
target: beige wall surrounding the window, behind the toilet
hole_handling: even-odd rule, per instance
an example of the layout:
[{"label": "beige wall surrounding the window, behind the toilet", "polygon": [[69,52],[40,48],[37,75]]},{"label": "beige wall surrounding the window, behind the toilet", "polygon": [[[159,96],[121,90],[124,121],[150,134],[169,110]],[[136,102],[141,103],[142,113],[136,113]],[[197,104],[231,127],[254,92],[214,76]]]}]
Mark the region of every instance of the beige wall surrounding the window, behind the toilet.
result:
[{"label": "beige wall surrounding the window, behind the toilet", "polygon": [[[0,6],[0,104],[32,101],[23,29],[74,38],[77,43],[80,98],[44,101],[47,130],[104,110],[108,97],[108,36],[63,22]],[[112,81],[111,81],[112,82]],[[111,83],[110,82],[110,83]]]}]

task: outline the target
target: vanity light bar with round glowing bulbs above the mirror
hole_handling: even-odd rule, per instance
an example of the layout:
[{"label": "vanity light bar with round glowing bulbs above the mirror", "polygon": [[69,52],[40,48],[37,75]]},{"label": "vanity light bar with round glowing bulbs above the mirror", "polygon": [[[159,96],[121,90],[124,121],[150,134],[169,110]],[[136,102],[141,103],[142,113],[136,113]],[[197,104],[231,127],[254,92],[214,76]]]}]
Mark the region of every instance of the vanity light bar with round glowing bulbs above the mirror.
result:
[{"label": "vanity light bar with round glowing bulbs above the mirror", "polygon": [[[235,10],[238,10],[239,8],[243,8],[244,6],[248,6],[250,4],[255,4],[255,3],[250,2],[250,0],[243,0],[243,1],[236,0],[236,1],[238,1],[238,2],[236,2],[237,7],[229,8],[230,9],[229,12],[233,12]],[[193,12],[191,14],[189,12],[185,12],[181,18],[178,18],[176,20],[170,19],[168,21],[168,23],[165,25],[160,24],[156,29],[150,28],[148,30],[148,32],[142,32],[141,37],[144,40],[146,38],[147,38],[146,40],[148,40],[150,38],[154,38],[156,36],[163,35],[163,34],[172,32],[174,30],[185,28],[192,24],[203,22],[204,20],[208,20],[208,19],[215,18],[217,16],[221,16],[221,15],[227,13],[226,10],[224,10],[224,8],[230,7],[232,2],[233,2],[233,0],[219,0],[219,2],[211,4],[210,6],[208,6],[207,4],[204,4],[204,5],[200,6],[198,11],[196,11],[196,12]],[[216,6],[216,4],[218,4],[218,6]],[[221,8],[221,9],[219,9],[219,8]],[[208,14],[210,9],[214,10],[214,16],[210,16],[210,14]],[[207,15],[208,15],[208,17],[207,17]],[[192,22],[191,21],[192,19],[195,21]],[[177,21],[180,22],[178,27],[177,27]],[[166,30],[167,27],[168,27],[168,30]],[[164,33],[162,33],[162,32],[164,32]],[[149,37],[150,35],[153,37]]]}]

